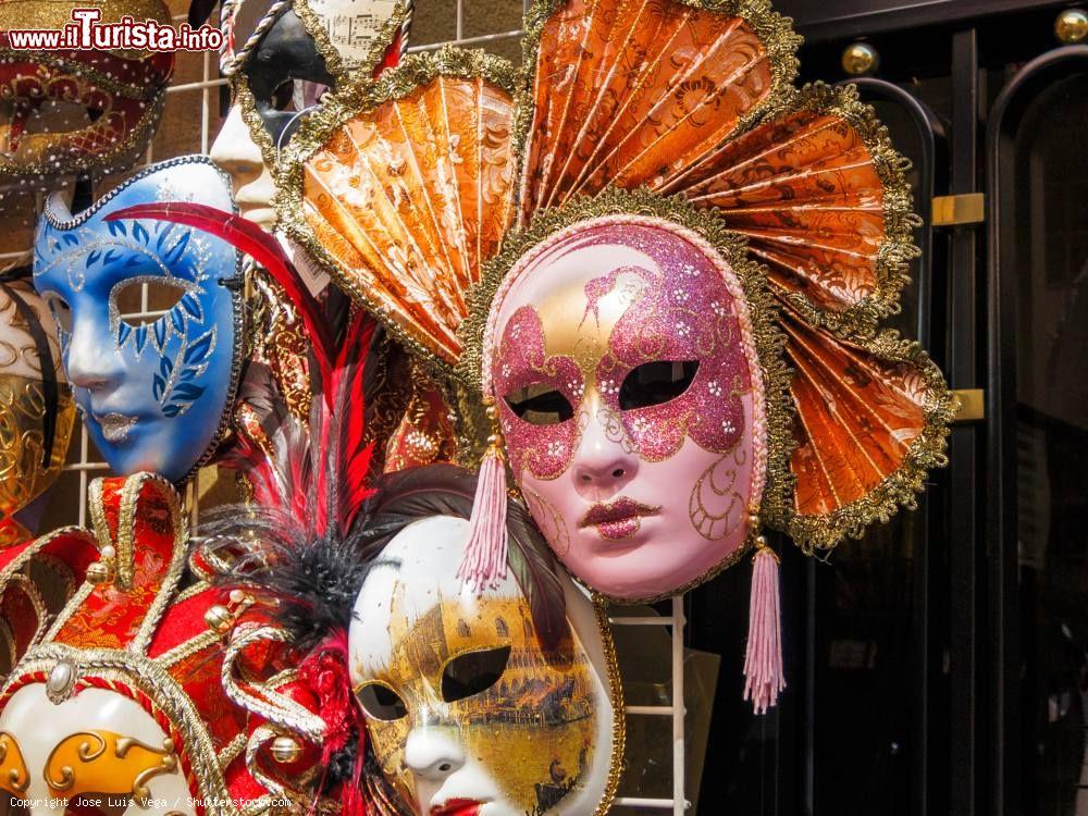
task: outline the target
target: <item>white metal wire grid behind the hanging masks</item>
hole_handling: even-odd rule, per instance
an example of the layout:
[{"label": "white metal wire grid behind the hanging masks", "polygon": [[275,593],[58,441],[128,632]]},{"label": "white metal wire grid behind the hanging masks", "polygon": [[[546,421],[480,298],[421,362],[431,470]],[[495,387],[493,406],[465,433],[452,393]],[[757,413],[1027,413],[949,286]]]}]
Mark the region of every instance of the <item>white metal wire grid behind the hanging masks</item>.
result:
[{"label": "white metal wire grid behind the hanging masks", "polygon": [[[178,0],[183,2],[184,0]],[[516,7],[519,0],[455,0],[452,20],[447,0],[416,0],[416,21],[411,32],[411,41],[419,45],[409,51],[426,51],[441,48],[444,45],[455,45],[472,48],[495,50],[505,57],[518,60],[520,58],[520,28],[510,28],[510,7]],[[529,0],[523,0],[528,5]],[[174,3],[175,11],[177,3]],[[503,13],[496,13],[505,7]],[[517,15],[520,17],[520,15]],[[176,23],[185,20],[184,13],[174,16]],[[471,21],[471,25],[467,23]],[[433,23],[433,24],[432,24]],[[450,25],[452,24],[452,25]],[[485,30],[494,24],[499,30]],[[504,25],[506,24],[506,25]],[[443,25],[446,30],[442,30]],[[484,30],[481,30],[484,29]],[[214,133],[221,125],[219,115],[219,94],[226,79],[221,78],[214,54],[177,54],[175,82],[168,89],[166,108],[159,132],[148,147],[145,163],[181,156],[189,152],[207,153]],[[199,125],[189,133],[191,125],[191,104],[196,102],[199,110]],[[112,182],[107,186],[112,186]],[[0,254],[0,267],[18,259],[21,254]],[[147,289],[144,290],[141,316],[151,314],[148,309]],[[42,531],[54,529],[67,523],[87,523],[87,486],[90,479],[104,474],[107,466],[79,423],[77,438],[73,441],[69,455],[69,465],[62,474],[54,492],[49,510],[42,521]],[[186,487],[186,505],[190,518],[196,521],[201,496],[200,474]],[[76,512],[72,512],[75,509]],[[621,782],[621,793],[615,803],[614,811],[618,813],[668,812],[676,816],[685,813],[691,806],[685,799],[685,734],[684,734],[684,606],[683,598],[671,601],[669,616],[617,616],[611,618],[614,627],[667,627],[670,632],[670,688],[671,703],[669,705],[630,705],[628,717],[653,717],[656,720],[668,720],[671,728],[671,795],[640,796],[640,791],[625,790]]]}]

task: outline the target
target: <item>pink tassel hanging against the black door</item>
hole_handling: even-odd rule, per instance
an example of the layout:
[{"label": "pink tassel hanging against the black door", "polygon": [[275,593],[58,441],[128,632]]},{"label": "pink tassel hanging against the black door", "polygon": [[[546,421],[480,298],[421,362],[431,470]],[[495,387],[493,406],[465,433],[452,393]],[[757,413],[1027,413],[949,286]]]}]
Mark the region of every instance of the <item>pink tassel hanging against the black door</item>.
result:
[{"label": "pink tassel hanging against the black door", "polygon": [[778,555],[761,539],[752,567],[749,643],[744,656],[744,698],[766,714],[786,689],[782,668],[782,615],[779,608]]}]

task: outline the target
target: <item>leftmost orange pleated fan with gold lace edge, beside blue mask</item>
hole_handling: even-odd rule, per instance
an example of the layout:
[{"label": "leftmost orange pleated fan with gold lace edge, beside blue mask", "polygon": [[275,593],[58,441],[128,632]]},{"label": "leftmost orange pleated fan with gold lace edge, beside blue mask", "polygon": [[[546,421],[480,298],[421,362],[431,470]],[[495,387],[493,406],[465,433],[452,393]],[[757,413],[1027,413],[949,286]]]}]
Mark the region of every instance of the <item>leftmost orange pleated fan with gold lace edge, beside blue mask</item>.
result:
[{"label": "leftmost orange pleated fan with gold lace edge, beside blue mask", "polygon": [[289,237],[450,363],[466,293],[512,218],[511,73],[447,50],[347,86],[305,122],[277,184]]}]

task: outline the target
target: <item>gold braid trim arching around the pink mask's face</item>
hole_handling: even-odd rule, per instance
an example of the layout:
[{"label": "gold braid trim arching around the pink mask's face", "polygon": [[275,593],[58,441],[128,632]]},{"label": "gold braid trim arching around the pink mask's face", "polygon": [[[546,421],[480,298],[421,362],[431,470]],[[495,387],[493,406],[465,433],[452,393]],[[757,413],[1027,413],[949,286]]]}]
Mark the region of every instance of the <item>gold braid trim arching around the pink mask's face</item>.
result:
[{"label": "gold braid trim arching around the pink mask's face", "polygon": [[[580,221],[603,215],[651,215],[685,227],[710,244],[729,263],[744,293],[752,320],[753,341],[759,359],[766,395],[767,477],[761,503],[761,518],[781,527],[793,506],[794,478],[790,456],[796,445],[793,438],[793,401],[790,382],[793,372],[786,362],[784,337],[778,326],[778,305],[767,286],[767,269],[749,256],[743,237],[730,231],[725,221],[709,210],[698,209],[678,196],[659,196],[645,189],[609,188],[593,198],[577,197],[554,209],[536,213],[529,228],[507,233],[502,251],[484,265],[480,283],[468,292],[469,317],[461,323],[458,337],[465,351],[456,369],[461,385],[458,408],[466,416],[480,412],[483,384],[483,337],[492,308],[498,308],[495,297],[503,281],[518,260],[537,244]],[[474,406],[474,408],[473,408]],[[469,422],[466,421],[466,425]],[[475,433],[467,435],[459,459],[468,466],[479,465],[486,448],[481,433],[487,425],[480,421]],[[758,526],[752,526],[749,540],[740,552],[702,576],[695,583],[717,574],[735,564],[754,543]],[[693,584],[694,585],[694,584]],[[671,593],[670,593],[671,595]],[[668,596],[665,596],[668,597]]]}]

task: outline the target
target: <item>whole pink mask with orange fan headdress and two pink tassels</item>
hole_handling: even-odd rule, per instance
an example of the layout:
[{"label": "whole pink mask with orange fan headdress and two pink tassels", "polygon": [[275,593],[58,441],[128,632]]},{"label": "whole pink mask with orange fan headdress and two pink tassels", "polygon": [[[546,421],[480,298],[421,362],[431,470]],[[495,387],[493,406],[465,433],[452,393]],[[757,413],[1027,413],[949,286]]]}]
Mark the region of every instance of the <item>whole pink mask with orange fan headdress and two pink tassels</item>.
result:
[{"label": "whole pink mask with orange fan headdress and two pink tassels", "polygon": [[784,687],[764,526],[813,553],[913,506],[953,405],[880,327],[917,255],[905,161],[854,88],[792,85],[799,44],[766,0],[541,0],[524,72],[409,57],[326,96],[277,185],[289,238],[483,429],[466,578],[505,564],[507,460],[614,599],[755,548],[758,708]]}]

